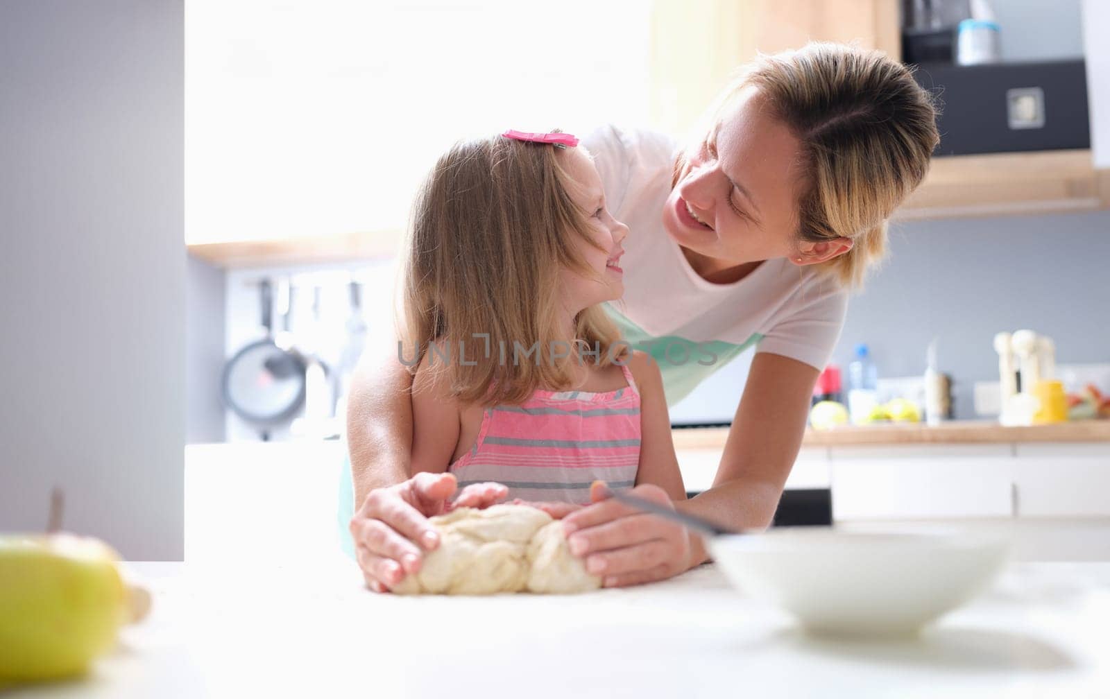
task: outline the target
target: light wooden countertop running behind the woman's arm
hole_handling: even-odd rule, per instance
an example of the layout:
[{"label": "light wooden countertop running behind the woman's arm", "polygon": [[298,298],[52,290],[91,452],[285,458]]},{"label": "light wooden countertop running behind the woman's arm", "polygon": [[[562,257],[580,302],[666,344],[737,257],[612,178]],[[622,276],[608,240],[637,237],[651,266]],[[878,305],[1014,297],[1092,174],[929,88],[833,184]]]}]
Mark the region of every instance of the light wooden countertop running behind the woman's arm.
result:
[{"label": "light wooden countertop running behind the woman's arm", "polygon": [[[719,449],[727,427],[692,427],[672,430],[675,448]],[[1057,425],[1003,427],[997,423],[953,422],[929,427],[922,424],[845,426],[826,432],[807,429],[805,447],[882,446],[899,444],[1006,444],[1019,442],[1110,442],[1110,421],[1091,419]]]}]

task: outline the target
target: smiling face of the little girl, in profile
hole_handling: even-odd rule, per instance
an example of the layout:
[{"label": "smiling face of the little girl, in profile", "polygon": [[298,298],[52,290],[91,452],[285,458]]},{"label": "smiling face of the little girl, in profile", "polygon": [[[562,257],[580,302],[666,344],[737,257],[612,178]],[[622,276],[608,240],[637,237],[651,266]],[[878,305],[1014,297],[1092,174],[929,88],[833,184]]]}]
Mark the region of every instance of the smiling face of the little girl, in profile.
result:
[{"label": "smiling face of the little girl, in profile", "polygon": [[571,180],[566,183],[567,194],[583,211],[589,212],[594,242],[601,247],[598,250],[578,239],[575,243],[578,255],[589,266],[591,274],[574,270],[563,270],[559,274],[563,303],[572,314],[577,314],[603,301],[624,295],[624,271],[619,266],[624,249],[620,243],[628,235],[628,226],[614,219],[606,209],[602,179],[585,149],[569,148],[558,155]]}]

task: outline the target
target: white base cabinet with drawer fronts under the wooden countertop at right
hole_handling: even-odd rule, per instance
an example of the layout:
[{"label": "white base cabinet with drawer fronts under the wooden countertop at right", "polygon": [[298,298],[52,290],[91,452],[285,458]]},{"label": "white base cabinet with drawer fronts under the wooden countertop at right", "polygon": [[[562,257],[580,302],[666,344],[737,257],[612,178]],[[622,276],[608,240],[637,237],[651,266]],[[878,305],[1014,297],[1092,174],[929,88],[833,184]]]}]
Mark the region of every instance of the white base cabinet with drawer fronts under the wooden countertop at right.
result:
[{"label": "white base cabinet with drawer fronts under the wooden countertop at right", "polygon": [[1017,560],[1110,560],[1110,443],[831,447],[833,519],[1011,537]]}]

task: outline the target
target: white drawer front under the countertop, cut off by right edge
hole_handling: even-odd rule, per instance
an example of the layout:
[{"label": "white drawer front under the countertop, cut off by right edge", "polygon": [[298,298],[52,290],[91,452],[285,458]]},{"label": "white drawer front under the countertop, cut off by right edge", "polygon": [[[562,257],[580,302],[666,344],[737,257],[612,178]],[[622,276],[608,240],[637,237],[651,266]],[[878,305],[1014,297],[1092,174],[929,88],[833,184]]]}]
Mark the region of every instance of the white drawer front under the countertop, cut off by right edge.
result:
[{"label": "white drawer front under the countertop, cut off by right edge", "polygon": [[1019,444],[1019,517],[1110,517],[1110,444]]}]

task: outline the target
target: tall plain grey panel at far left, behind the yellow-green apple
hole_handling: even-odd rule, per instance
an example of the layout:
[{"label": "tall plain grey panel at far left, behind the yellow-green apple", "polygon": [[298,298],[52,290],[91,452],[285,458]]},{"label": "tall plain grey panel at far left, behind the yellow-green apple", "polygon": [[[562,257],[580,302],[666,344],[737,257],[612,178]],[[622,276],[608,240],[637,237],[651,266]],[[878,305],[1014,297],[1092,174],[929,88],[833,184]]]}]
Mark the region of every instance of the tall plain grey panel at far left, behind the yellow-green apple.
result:
[{"label": "tall plain grey panel at far left, behind the yellow-green apple", "polygon": [[0,2],[0,530],[180,559],[180,0]]}]

